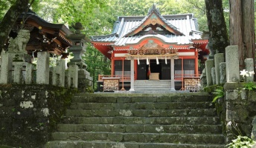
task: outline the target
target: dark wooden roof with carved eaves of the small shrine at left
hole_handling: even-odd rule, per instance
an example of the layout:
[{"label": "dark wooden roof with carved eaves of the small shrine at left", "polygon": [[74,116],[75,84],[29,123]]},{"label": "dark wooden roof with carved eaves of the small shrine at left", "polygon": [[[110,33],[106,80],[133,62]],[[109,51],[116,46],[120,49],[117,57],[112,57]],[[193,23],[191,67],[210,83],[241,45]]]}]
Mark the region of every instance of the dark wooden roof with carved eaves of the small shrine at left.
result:
[{"label": "dark wooden roof with carved eaves of the small shrine at left", "polygon": [[[25,22],[22,22],[25,20]],[[20,29],[29,30],[31,34],[26,50],[28,54],[33,54],[37,51],[45,50],[56,55],[63,55],[65,58],[68,53],[65,53],[66,48],[72,45],[67,38],[71,35],[71,30],[64,24],[53,24],[37,16],[32,10],[28,13],[22,13],[14,25],[10,37],[16,37],[16,33]]]}]

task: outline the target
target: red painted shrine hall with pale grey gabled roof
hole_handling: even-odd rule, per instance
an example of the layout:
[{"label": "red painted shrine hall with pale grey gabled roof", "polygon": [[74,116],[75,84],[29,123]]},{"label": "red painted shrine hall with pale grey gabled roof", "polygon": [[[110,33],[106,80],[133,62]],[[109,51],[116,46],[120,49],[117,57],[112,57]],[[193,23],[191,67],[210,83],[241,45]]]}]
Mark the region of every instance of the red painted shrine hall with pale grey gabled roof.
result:
[{"label": "red painted shrine hall with pale grey gabled roof", "polygon": [[136,90],[141,80],[190,90],[199,83],[198,61],[208,54],[208,39],[201,36],[193,14],[161,16],[153,5],[147,16],[120,16],[112,34],[92,36],[92,44],[112,63],[111,75],[99,75],[98,83],[104,82],[104,91]]}]

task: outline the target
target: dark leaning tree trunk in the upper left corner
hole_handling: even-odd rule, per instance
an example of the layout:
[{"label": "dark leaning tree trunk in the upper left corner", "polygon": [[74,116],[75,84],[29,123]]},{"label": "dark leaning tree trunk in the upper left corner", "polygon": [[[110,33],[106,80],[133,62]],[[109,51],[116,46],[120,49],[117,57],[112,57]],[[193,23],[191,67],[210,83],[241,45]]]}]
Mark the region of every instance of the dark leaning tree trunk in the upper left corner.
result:
[{"label": "dark leaning tree trunk in the upper left corner", "polygon": [[4,47],[4,43],[7,40],[10,30],[16,23],[18,17],[25,12],[28,7],[29,0],[18,0],[16,1],[7,13],[4,15],[4,19],[0,22],[0,53]]}]

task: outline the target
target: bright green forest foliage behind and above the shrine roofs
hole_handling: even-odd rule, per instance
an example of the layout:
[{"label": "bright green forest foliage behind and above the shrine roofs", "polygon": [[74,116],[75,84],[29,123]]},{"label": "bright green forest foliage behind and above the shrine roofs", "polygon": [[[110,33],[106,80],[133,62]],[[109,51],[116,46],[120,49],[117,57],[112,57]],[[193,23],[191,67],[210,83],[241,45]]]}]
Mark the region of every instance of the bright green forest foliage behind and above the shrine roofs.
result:
[{"label": "bright green forest foliage behind and above the shrine roofs", "polygon": [[[193,13],[198,19],[199,30],[208,30],[205,0],[31,0],[30,7],[45,21],[55,24],[65,24],[71,30],[71,25],[80,21],[84,26],[86,36],[100,36],[112,32],[112,27],[118,16],[145,16],[150,7],[156,4],[161,15]],[[15,0],[0,0],[0,20],[14,4]],[[228,0],[223,0],[223,10],[228,22]],[[228,23],[227,23],[228,24]],[[228,27],[228,25],[227,25]],[[98,74],[110,73],[109,60],[89,44],[86,55],[83,56],[94,81]]]}]

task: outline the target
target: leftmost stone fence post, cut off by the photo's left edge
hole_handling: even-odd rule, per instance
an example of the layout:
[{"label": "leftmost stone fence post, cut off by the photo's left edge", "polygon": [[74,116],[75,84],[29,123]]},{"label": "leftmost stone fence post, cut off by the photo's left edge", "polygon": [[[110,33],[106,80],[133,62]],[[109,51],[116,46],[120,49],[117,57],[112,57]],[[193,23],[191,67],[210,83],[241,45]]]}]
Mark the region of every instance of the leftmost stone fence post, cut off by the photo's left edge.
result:
[{"label": "leftmost stone fence post, cut off by the photo's left edge", "polygon": [[13,61],[8,53],[1,54],[1,75],[0,84],[8,84],[10,81],[10,69],[13,67]]}]

